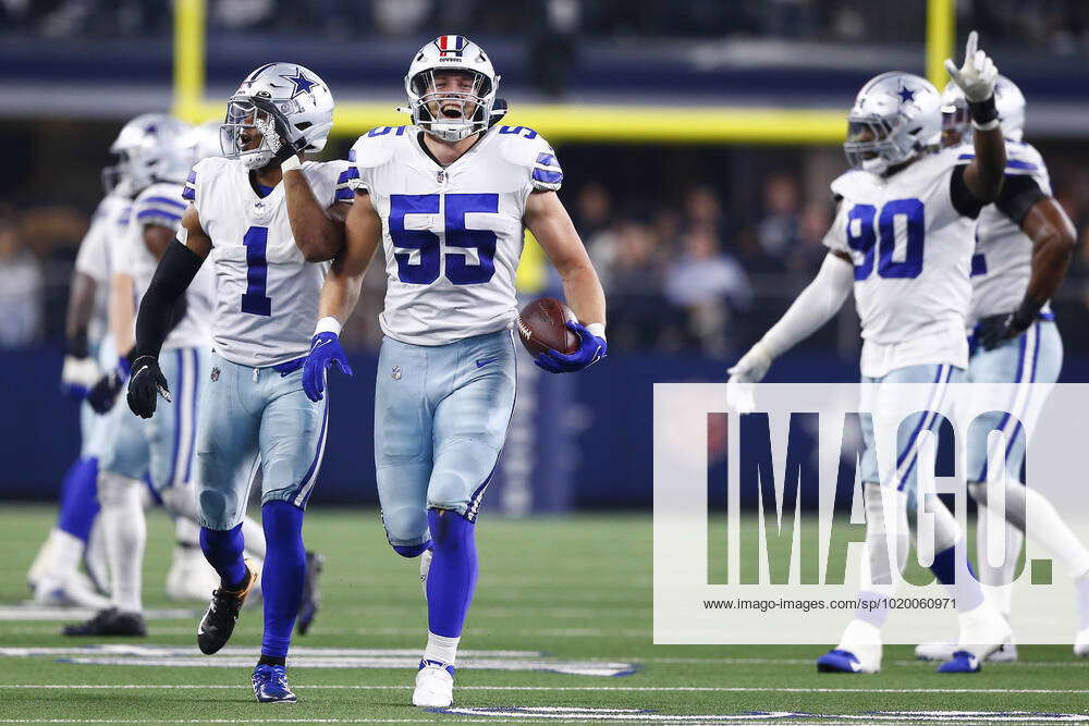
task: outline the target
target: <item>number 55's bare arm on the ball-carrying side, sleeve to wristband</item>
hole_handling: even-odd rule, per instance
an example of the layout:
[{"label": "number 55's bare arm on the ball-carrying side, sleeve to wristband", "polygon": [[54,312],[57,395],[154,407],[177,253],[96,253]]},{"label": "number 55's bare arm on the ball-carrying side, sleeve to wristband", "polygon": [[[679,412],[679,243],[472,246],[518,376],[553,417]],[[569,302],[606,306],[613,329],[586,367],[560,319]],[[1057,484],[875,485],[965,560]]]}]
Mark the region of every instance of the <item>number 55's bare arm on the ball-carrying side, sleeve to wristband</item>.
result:
[{"label": "number 55's bare arm on the ball-carrying side, sleeve to wristband", "polygon": [[584,325],[605,322],[605,294],[586,247],[555,192],[534,192],[523,218],[563,280],[563,294]]}]

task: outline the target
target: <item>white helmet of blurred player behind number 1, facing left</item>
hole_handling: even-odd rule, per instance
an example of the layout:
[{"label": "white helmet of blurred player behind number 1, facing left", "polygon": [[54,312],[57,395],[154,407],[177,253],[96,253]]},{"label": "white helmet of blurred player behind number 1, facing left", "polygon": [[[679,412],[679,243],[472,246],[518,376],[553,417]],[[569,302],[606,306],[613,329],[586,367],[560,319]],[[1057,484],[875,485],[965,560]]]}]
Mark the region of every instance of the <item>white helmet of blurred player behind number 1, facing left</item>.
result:
[{"label": "white helmet of blurred player behind number 1, facing left", "polygon": [[191,157],[183,139],[189,131],[164,113],[144,113],[126,123],[110,146],[117,165],[102,170],[107,193],[135,196],[155,182],[184,182]]}]

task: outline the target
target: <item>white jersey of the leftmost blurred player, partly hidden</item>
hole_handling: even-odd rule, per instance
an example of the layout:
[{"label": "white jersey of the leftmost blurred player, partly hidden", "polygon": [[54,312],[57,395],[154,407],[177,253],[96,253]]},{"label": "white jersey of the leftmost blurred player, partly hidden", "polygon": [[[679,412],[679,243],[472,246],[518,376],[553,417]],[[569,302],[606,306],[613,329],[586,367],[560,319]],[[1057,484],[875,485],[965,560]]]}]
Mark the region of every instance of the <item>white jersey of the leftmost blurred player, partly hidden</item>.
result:
[{"label": "white jersey of the leftmost blurred player, partly hidden", "polygon": [[95,310],[87,325],[87,341],[99,345],[109,333],[110,275],[113,273],[113,248],[129,230],[132,199],[108,194],[90,218],[90,226],[75,257],[75,269],[95,281]]}]

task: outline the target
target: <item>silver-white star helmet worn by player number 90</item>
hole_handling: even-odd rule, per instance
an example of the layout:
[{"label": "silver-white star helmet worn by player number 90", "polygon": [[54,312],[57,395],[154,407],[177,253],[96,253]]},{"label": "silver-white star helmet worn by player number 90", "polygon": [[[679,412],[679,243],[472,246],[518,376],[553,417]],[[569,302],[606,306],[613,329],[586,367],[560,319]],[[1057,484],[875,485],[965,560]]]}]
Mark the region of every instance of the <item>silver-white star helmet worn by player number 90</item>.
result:
[{"label": "silver-white star helmet worn by player number 90", "polygon": [[858,91],[843,150],[853,168],[883,174],[938,146],[941,131],[938,89],[913,73],[893,71]]}]

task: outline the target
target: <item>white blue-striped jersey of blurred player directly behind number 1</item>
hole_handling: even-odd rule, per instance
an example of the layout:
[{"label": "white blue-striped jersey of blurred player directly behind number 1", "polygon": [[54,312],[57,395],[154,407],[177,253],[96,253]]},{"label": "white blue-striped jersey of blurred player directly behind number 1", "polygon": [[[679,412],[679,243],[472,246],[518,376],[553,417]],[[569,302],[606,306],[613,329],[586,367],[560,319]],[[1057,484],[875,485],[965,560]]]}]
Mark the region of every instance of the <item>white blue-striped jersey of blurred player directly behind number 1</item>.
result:
[{"label": "white blue-striped jersey of blurred player directly behind number 1", "polygon": [[[182,190],[181,184],[156,182],[140,192],[133,201],[129,233],[122,238],[118,251],[118,272],[132,276],[137,307],[150,287],[151,278],[159,266],[159,260],[144,244],[144,230],[148,226],[163,226],[178,232],[182,212],[188,206],[182,199]],[[201,268],[185,291],[185,317],[167,335],[162,343],[163,350],[208,346],[212,294],[211,274]]]}]

